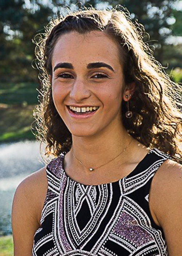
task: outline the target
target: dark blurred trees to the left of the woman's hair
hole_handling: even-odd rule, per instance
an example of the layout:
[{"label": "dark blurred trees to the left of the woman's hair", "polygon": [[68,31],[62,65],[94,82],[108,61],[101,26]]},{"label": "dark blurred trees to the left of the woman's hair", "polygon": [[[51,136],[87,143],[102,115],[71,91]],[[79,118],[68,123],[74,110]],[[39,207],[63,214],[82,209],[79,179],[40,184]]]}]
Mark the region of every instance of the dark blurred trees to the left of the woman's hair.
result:
[{"label": "dark blurred trees to the left of the woman's hair", "polygon": [[[32,1],[33,7],[33,1]],[[26,8],[24,0],[0,1],[1,82],[35,81],[32,69],[34,45],[32,37],[47,24],[50,8],[36,3]]]}]

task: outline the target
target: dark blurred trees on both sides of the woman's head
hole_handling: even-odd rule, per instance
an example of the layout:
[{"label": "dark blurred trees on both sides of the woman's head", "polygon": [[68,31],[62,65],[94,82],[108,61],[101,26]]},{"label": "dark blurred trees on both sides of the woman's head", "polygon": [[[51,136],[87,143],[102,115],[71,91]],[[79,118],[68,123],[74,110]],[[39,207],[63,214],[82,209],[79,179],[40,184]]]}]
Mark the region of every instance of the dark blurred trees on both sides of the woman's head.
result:
[{"label": "dark blurred trees on both sides of the woman's head", "polygon": [[[87,7],[92,5],[100,9],[117,4],[127,7],[131,17],[138,19],[150,34],[150,39],[146,38],[146,41],[155,46],[155,57],[169,70],[182,68],[182,44],[175,45],[182,36],[179,0],[83,1]],[[76,0],[0,1],[0,82],[37,82],[38,72],[31,66],[35,58],[35,45],[31,39],[35,34],[43,32],[49,20],[59,15],[66,5],[73,10],[80,6]]]}]

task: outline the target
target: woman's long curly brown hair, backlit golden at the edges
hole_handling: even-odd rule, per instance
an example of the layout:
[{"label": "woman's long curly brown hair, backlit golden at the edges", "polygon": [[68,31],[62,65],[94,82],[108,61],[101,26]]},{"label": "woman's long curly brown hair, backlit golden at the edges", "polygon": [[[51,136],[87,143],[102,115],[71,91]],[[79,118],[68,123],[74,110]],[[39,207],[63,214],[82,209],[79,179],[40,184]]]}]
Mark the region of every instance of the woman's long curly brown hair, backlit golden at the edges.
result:
[{"label": "woman's long curly brown hair, backlit golden at the edges", "polygon": [[[119,57],[122,57],[120,60],[124,64],[124,84],[132,81],[136,84],[130,100],[132,118],[122,114],[124,128],[146,147],[158,148],[174,161],[182,163],[180,84],[170,79],[154,58],[149,44],[144,42],[145,35],[148,35],[144,26],[137,20],[132,21],[129,11],[122,5],[116,5],[111,10],[83,6],[76,11],[67,11],[66,15],[52,19],[45,27],[45,33],[33,38],[36,44],[36,67],[41,81],[38,96],[40,104],[33,110],[36,130],[33,134],[37,140],[46,144],[44,155],[57,157],[60,153],[70,151],[72,146],[72,135],[55,108],[49,80],[56,41],[60,35],[69,31],[86,34],[100,30],[118,44]],[[126,103],[122,100],[123,113],[127,111]]]}]

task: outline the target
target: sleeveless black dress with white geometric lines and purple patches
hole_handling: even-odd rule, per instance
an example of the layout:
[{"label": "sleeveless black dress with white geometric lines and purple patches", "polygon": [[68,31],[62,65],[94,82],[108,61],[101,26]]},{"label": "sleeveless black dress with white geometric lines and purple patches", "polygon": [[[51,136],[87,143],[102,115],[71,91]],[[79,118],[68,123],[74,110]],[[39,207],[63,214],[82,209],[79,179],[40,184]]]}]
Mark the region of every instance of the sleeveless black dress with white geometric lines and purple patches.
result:
[{"label": "sleeveless black dress with white geometric lines and purple patches", "polygon": [[149,209],[151,181],[170,155],[151,149],[118,181],[84,185],[67,176],[64,155],[46,166],[47,194],[32,256],[167,256]]}]

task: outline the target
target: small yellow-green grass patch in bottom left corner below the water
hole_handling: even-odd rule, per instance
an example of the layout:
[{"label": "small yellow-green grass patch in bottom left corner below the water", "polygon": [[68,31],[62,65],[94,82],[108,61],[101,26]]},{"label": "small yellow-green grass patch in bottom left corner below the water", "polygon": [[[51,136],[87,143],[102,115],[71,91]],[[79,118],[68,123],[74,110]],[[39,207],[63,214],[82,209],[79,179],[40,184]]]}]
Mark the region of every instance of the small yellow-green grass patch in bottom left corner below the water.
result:
[{"label": "small yellow-green grass patch in bottom left corner below the water", "polygon": [[0,256],[13,256],[13,237],[0,237]]}]

